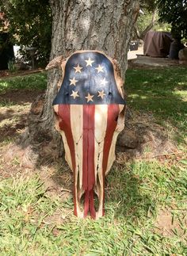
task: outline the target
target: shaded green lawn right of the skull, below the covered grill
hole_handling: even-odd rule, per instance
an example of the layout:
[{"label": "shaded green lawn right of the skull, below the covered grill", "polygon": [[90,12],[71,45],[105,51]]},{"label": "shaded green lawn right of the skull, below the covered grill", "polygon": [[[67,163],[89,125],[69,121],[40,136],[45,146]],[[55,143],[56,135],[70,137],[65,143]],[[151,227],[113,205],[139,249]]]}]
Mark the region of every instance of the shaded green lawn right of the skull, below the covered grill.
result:
[{"label": "shaded green lawn right of the skull, below the covered grill", "polygon": [[151,112],[158,122],[177,128],[177,140],[184,142],[187,115],[187,67],[153,70],[128,70],[126,86],[128,106]]}]

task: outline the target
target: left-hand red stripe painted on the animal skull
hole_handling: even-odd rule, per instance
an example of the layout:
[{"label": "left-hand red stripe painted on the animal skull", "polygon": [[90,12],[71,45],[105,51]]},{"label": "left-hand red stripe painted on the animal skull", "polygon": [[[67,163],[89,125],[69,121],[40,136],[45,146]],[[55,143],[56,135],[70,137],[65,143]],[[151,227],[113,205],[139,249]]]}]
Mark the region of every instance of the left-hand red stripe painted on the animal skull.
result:
[{"label": "left-hand red stripe painted on the animal skull", "polygon": [[[59,117],[62,119],[59,122],[59,128],[65,133],[67,138],[67,144],[71,151],[71,162],[74,173],[74,185],[75,185],[75,151],[74,151],[74,139],[71,132],[71,106],[70,105],[59,105]],[[74,215],[77,216],[76,208],[76,197],[75,197],[75,186],[74,186]]]}]

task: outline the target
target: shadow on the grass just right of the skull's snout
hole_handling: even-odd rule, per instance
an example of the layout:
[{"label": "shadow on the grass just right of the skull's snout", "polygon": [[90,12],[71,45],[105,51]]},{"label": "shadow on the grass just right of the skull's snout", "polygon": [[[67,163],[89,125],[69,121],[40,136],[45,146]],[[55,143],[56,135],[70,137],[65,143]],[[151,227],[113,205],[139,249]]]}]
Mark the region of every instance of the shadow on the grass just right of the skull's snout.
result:
[{"label": "shadow on the grass just right of the skull's snout", "polygon": [[141,192],[141,179],[132,168],[119,168],[114,164],[106,177],[105,208],[106,215],[113,212],[115,218],[135,222],[143,220],[150,214],[155,215],[155,202],[151,193]]}]

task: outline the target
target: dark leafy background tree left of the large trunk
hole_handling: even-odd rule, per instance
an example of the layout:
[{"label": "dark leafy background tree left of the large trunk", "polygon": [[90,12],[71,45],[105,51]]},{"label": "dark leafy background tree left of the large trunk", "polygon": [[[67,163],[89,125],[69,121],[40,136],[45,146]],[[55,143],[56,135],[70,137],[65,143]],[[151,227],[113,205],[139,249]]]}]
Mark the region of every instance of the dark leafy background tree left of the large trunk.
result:
[{"label": "dark leafy background tree left of the large trunk", "polygon": [[36,47],[37,62],[48,63],[52,36],[48,0],[0,0],[0,6],[13,43],[22,51],[24,47]]}]

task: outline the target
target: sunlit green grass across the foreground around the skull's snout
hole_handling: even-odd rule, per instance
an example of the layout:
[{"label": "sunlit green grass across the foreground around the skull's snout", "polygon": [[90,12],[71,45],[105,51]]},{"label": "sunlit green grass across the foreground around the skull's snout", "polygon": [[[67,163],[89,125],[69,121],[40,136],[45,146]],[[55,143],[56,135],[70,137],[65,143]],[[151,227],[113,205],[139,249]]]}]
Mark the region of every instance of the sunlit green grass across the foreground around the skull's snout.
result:
[{"label": "sunlit green grass across the foreground around the skull's snout", "polygon": [[[56,209],[73,208],[72,200],[48,197],[36,175],[5,179],[0,186],[2,255],[185,255],[187,178],[184,165],[179,166],[156,161],[114,166],[107,178],[105,217],[78,220],[71,214],[59,225],[44,220]],[[171,209],[180,234],[156,231],[159,208]]]}]

